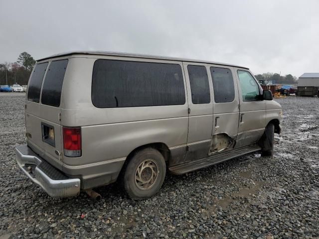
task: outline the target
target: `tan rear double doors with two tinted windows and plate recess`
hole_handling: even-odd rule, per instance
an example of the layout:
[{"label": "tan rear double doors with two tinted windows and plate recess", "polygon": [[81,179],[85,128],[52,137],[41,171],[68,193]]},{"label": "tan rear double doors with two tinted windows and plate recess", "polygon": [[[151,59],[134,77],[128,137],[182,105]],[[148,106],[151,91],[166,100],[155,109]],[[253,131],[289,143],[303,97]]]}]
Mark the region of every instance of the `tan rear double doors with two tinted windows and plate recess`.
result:
[{"label": "tan rear double doors with two tinted windows and plate recess", "polygon": [[67,59],[38,63],[26,95],[25,129],[28,146],[62,170],[61,94]]}]

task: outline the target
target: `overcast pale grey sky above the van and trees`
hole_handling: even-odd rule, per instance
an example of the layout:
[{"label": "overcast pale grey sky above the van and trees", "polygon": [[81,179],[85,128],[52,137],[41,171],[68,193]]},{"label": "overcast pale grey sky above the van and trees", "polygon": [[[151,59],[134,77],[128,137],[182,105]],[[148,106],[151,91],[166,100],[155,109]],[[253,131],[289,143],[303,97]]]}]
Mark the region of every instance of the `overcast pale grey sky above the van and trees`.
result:
[{"label": "overcast pale grey sky above the van and trees", "polygon": [[319,72],[319,0],[0,0],[0,63],[103,50]]}]

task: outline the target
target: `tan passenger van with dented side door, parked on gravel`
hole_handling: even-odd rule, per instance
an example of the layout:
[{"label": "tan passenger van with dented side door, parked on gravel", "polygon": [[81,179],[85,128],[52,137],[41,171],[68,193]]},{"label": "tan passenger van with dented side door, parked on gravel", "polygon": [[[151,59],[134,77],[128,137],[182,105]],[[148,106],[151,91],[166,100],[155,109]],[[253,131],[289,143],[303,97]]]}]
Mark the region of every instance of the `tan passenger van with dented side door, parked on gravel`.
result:
[{"label": "tan passenger van with dented side door, parked on gravel", "polygon": [[183,174],[261,150],[272,155],[281,106],[246,67],[114,52],[37,61],[25,101],[21,170],[50,196],[122,180],[133,199]]}]

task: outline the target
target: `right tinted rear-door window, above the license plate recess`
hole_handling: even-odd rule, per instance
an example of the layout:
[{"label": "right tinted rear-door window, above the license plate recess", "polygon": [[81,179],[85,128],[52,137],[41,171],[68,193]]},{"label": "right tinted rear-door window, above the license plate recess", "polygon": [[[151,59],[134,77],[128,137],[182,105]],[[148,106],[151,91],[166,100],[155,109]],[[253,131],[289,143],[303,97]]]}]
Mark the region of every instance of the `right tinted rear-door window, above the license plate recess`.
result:
[{"label": "right tinted rear-door window, above the license plate recess", "polygon": [[41,103],[43,105],[59,107],[64,74],[68,60],[52,61],[47,70],[43,88]]}]

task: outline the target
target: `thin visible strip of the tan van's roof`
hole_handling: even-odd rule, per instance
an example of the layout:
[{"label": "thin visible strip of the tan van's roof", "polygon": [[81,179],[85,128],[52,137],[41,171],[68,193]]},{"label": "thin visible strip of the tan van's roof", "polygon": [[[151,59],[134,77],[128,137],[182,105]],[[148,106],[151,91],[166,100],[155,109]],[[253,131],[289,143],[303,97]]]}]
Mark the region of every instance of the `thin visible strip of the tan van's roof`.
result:
[{"label": "thin visible strip of the tan van's roof", "polygon": [[198,63],[210,63],[216,65],[223,65],[223,66],[235,66],[240,68],[249,69],[247,67],[227,64],[227,63],[220,63],[220,62],[213,62],[213,61],[203,61],[203,60],[196,60],[196,59],[187,59],[187,58],[178,58],[178,57],[168,57],[168,56],[156,56],[156,55],[145,55],[145,54],[135,54],[135,53],[125,53],[125,52],[112,52],[112,51],[70,51],[70,52],[63,52],[59,54],[55,54],[49,57],[44,57],[38,59],[37,61],[42,61],[54,57],[61,57],[61,56],[71,56],[71,55],[103,55],[103,56],[127,56],[127,57],[137,57],[137,58],[147,58],[147,59],[162,59],[162,60],[170,60],[170,61],[189,61],[189,62],[198,62]]}]

